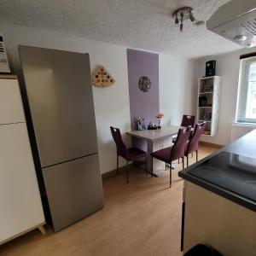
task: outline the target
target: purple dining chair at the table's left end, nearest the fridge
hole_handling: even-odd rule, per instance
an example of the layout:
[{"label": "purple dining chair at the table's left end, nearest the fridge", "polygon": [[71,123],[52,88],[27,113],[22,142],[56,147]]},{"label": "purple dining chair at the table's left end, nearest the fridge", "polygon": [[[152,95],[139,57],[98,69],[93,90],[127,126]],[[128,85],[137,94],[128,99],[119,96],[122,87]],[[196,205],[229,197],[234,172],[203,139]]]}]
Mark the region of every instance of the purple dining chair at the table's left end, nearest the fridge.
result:
[{"label": "purple dining chair at the table's left end, nearest the fridge", "polygon": [[147,153],[139,148],[126,148],[125,143],[121,137],[121,133],[119,128],[114,128],[110,126],[110,131],[113,137],[113,141],[116,145],[116,153],[117,153],[117,168],[116,172],[119,174],[119,156],[126,160],[126,180],[129,183],[129,161],[136,161],[142,158],[145,158],[146,162],[146,174],[148,174],[147,168]]}]

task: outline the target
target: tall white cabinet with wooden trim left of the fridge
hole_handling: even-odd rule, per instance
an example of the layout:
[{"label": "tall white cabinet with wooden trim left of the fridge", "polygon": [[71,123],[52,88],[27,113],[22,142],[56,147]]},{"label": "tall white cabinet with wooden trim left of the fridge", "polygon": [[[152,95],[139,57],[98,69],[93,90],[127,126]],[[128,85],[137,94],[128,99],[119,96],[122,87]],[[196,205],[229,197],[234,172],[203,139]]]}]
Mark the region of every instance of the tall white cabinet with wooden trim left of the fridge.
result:
[{"label": "tall white cabinet with wooden trim left of the fridge", "polygon": [[2,244],[44,225],[45,219],[17,79],[0,79],[0,102]]}]

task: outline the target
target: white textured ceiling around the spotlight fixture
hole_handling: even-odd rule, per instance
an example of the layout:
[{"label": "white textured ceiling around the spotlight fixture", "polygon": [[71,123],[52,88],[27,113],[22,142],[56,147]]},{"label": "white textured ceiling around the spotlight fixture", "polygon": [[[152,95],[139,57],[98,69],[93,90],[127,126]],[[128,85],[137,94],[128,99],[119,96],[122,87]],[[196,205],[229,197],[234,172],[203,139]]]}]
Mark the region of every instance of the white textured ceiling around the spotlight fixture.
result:
[{"label": "white textured ceiling around the spotlight fixture", "polygon": [[206,26],[189,20],[184,32],[174,26],[172,11],[195,9],[197,20],[207,20],[229,0],[1,0],[0,20],[72,34],[98,41],[172,55],[216,55],[240,46]]}]

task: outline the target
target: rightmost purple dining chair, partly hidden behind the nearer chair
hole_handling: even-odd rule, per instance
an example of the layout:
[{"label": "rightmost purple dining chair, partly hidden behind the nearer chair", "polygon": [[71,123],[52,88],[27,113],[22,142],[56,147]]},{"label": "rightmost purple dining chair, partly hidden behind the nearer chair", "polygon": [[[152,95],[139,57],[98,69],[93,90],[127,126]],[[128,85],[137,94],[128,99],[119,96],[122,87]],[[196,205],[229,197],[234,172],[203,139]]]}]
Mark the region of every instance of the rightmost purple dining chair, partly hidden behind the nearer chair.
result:
[{"label": "rightmost purple dining chair, partly hidden behind the nearer chair", "polygon": [[198,161],[198,144],[200,137],[205,129],[206,122],[195,125],[195,131],[189,143],[187,143],[187,147],[185,148],[185,156],[187,158],[187,167],[189,166],[189,154],[195,152],[196,161]]}]

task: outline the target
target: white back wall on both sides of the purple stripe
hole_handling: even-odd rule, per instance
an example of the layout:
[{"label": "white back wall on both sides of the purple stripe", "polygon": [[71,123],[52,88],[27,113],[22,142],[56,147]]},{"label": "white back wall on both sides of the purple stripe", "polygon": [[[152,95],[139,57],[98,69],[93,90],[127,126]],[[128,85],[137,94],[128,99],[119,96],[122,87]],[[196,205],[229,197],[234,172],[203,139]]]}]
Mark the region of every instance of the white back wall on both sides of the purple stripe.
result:
[{"label": "white back wall on both sides of the purple stripe", "polygon": [[[115,84],[108,88],[93,86],[93,96],[102,173],[114,170],[116,151],[109,126],[117,126],[123,133],[131,129],[126,47],[7,23],[0,23],[0,32],[18,75],[19,44],[87,52],[91,72],[102,64],[113,75]],[[195,113],[193,67],[193,61],[185,58],[160,55],[160,111],[165,113],[165,123],[180,124],[183,113]],[[125,142],[129,144],[130,138],[125,137]]]}]

